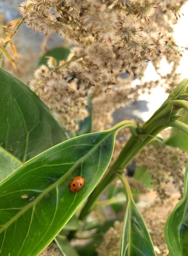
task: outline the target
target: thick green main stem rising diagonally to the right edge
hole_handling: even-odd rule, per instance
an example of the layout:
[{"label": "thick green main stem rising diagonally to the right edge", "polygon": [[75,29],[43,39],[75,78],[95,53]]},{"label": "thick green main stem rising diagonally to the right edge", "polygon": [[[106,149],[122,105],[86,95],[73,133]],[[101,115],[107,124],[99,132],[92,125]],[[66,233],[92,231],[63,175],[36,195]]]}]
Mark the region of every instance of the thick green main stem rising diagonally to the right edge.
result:
[{"label": "thick green main stem rising diagonally to the right edge", "polygon": [[129,138],[114,164],[111,166],[110,170],[106,173],[104,178],[101,180],[98,186],[93,190],[92,194],[89,196],[87,203],[82,208],[80,213],[80,219],[84,219],[87,214],[92,210],[92,205],[96,202],[99,196],[107,186],[116,178],[117,173],[122,173],[124,168],[129,164],[129,162],[134,158],[135,155],[139,153],[159,132],[164,130],[169,126],[177,127],[185,132],[188,131],[187,126],[179,121],[171,121],[171,117],[176,114],[176,110],[173,105],[181,106],[188,111],[188,102],[185,100],[179,100],[179,97],[184,91],[188,83],[188,79],[184,79],[169,95],[167,100],[162,104],[162,106],[153,114],[153,116],[143,124],[143,126],[137,123],[138,134],[133,135]]}]

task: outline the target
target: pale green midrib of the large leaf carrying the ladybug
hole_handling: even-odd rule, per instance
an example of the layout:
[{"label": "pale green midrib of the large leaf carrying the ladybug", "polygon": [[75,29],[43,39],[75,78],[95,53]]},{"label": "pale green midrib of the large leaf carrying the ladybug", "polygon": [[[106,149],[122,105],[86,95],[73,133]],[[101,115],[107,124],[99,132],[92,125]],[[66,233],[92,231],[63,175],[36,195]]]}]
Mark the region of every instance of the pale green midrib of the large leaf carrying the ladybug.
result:
[{"label": "pale green midrib of the large leaf carrying the ladybug", "polygon": [[[116,130],[116,129],[115,129]],[[16,219],[18,219],[23,213],[25,213],[28,209],[30,209],[33,205],[38,203],[40,199],[43,198],[45,194],[47,194],[49,191],[53,190],[56,186],[61,183],[61,181],[64,180],[76,167],[79,165],[83,160],[87,158],[89,154],[91,154],[92,151],[94,151],[99,145],[102,144],[106,138],[108,138],[112,133],[115,132],[115,130],[110,131],[102,140],[100,140],[99,143],[97,143],[91,150],[87,152],[86,155],[82,156],[62,177],[60,177],[56,182],[51,184],[47,189],[44,190],[35,200],[31,201],[29,204],[27,204],[24,208],[21,209],[11,220],[9,220],[4,226],[0,229],[0,234],[6,230]],[[83,136],[83,135],[81,135]],[[73,138],[74,139],[74,138]],[[50,149],[49,149],[50,150]],[[20,168],[20,167],[19,167]]]}]

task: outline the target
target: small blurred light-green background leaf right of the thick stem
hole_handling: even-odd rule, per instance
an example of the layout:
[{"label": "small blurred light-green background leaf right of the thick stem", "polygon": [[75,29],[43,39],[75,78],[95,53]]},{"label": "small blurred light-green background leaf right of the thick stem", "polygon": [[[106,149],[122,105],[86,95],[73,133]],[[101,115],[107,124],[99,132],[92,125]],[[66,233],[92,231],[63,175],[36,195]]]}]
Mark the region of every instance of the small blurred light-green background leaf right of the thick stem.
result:
[{"label": "small blurred light-green background leaf right of the thick stem", "polygon": [[141,181],[148,188],[152,188],[152,175],[147,171],[146,166],[142,165],[136,168],[133,178]]}]

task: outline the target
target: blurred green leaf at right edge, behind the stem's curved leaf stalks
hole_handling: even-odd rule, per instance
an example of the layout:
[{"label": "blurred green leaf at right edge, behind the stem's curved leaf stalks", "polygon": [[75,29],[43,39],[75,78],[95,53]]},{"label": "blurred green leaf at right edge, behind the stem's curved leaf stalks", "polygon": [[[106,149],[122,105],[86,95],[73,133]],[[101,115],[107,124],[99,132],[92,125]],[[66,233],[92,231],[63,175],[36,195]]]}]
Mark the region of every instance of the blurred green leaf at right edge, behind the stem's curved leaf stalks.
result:
[{"label": "blurred green leaf at right edge, behind the stem's curved leaf stalks", "polygon": [[[186,114],[186,111],[182,110],[180,112],[180,114],[181,115]],[[188,115],[187,114],[184,118],[181,118],[181,122],[188,125]],[[171,136],[165,142],[165,144],[173,146],[173,147],[181,148],[188,152],[188,136],[185,132],[183,132],[177,128],[172,128]]]}]

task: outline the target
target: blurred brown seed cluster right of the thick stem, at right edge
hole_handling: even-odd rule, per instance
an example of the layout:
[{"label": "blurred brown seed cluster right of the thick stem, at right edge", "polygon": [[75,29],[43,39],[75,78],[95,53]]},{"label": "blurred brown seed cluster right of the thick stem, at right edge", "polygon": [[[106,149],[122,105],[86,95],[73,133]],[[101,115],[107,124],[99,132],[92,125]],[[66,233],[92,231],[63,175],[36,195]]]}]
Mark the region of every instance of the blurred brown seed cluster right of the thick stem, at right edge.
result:
[{"label": "blurred brown seed cluster right of the thick stem, at right edge", "polygon": [[145,165],[151,172],[154,190],[162,201],[170,197],[166,189],[170,177],[182,196],[184,170],[188,161],[186,151],[171,146],[155,148],[148,145],[135,157],[135,161],[137,166]]}]

